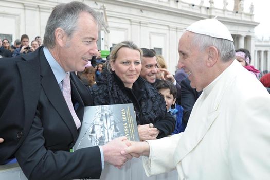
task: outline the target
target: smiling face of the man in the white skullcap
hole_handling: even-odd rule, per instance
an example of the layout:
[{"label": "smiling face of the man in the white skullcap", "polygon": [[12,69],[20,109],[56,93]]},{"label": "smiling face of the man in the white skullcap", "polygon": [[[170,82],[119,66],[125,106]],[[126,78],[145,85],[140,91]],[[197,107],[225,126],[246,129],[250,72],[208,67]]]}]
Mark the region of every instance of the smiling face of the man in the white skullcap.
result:
[{"label": "smiling face of the man in the white skullcap", "polygon": [[192,88],[201,91],[208,85],[206,66],[206,52],[192,44],[194,33],[186,31],[179,40],[179,63],[188,74]]}]

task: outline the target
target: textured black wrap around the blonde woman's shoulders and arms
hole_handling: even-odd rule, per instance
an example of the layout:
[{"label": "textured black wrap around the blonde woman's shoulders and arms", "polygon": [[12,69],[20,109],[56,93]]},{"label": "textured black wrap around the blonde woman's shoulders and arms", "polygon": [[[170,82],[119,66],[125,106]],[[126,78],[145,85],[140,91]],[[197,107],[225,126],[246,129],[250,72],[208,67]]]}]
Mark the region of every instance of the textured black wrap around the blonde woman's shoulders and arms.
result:
[{"label": "textured black wrap around the blonde woman's shoulders and arms", "polygon": [[139,77],[132,89],[124,87],[115,73],[105,70],[97,78],[97,85],[91,88],[94,105],[133,103],[137,124],[155,123],[164,119],[166,103],[157,90]]}]

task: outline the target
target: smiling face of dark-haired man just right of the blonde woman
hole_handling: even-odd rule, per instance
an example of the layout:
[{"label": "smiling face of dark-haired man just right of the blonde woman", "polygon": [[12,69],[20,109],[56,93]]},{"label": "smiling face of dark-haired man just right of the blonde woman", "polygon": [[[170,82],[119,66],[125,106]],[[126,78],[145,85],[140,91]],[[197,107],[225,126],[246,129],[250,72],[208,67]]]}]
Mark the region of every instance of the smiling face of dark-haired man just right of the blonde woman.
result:
[{"label": "smiling face of dark-haired man just right of the blonde woman", "polygon": [[140,76],[149,83],[156,82],[157,61],[156,57],[142,57]]}]

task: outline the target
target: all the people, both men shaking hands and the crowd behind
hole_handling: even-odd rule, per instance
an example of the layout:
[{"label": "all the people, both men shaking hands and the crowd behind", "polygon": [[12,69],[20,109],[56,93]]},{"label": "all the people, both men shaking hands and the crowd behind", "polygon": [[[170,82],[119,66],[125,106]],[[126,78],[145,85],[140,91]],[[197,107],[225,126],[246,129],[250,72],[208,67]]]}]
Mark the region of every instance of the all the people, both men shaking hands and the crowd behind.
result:
[{"label": "all the people, both men shaking hands and the crowd behind", "polygon": [[[257,79],[225,25],[191,24],[173,76],[164,57],[132,41],[104,60],[101,24],[75,1],[53,8],[43,43],[29,46],[26,34],[12,46],[0,40],[0,165],[15,159],[29,179],[98,179],[105,163],[121,168],[144,156],[147,175],[176,168],[179,179],[270,177],[270,78]],[[119,137],[69,152],[85,106],[125,103],[134,105],[140,142]]]}]

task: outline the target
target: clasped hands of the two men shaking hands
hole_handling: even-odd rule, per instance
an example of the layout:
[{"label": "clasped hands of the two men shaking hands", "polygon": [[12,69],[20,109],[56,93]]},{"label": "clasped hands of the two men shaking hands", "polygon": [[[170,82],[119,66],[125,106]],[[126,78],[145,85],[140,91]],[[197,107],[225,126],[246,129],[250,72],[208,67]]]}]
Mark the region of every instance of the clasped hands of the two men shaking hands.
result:
[{"label": "clasped hands of the two men shaking hands", "polygon": [[117,168],[121,168],[132,157],[149,156],[148,142],[130,141],[125,136],[118,137],[101,147],[104,161]]}]

